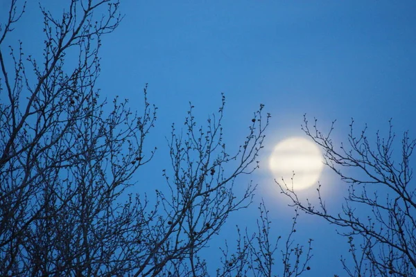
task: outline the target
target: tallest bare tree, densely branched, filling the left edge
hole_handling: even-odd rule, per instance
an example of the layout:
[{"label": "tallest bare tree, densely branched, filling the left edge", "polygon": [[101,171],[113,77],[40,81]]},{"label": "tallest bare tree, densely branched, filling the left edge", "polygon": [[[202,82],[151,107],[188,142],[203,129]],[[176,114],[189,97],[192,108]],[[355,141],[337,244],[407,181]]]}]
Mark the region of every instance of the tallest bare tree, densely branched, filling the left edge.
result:
[{"label": "tallest bare tree, densely branched, filling the left edge", "polygon": [[[3,45],[25,10],[10,2],[0,36],[1,276],[120,275],[128,267],[126,235],[148,217],[114,200],[153,155],[143,143],[155,110],[146,89],[141,116],[126,102],[115,99],[108,113],[98,102],[98,50],[121,21],[118,6],[70,1],[60,18],[41,7],[42,60],[24,55],[20,42],[10,69]],[[78,55],[72,69],[69,49]]]}]

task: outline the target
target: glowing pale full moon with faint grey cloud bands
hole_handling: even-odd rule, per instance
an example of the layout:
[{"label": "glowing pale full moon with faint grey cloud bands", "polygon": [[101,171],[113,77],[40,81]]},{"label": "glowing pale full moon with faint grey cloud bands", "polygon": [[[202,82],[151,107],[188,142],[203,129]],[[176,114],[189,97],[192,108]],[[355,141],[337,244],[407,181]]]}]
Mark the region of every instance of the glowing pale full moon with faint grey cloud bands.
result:
[{"label": "glowing pale full moon with faint grey cloud bands", "polygon": [[300,137],[278,143],[269,159],[269,169],[275,179],[281,184],[283,178],[288,188],[292,188],[293,177],[294,190],[304,190],[316,184],[323,166],[318,146]]}]

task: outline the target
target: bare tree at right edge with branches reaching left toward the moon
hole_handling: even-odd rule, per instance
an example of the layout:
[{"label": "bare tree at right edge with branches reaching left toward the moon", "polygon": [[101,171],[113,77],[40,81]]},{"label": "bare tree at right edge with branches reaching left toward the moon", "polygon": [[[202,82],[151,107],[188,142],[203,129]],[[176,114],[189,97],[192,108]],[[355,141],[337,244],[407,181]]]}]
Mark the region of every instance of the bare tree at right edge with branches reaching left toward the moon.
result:
[{"label": "bare tree at right edge with branches reaching left toward the moon", "polygon": [[345,204],[340,213],[329,211],[320,186],[318,206],[302,202],[284,182],[282,193],[301,211],[340,227],[338,232],[347,238],[351,254],[351,260],[341,258],[349,276],[415,276],[416,187],[410,156],[416,140],[404,132],[401,144],[396,145],[390,120],[386,138],[377,132],[372,143],[367,126],[356,134],[352,120],[347,145],[336,147],[331,139],[333,123],[328,134],[320,132],[316,123],[309,129],[305,116],[302,129],[322,148],[325,165],[349,184]]}]

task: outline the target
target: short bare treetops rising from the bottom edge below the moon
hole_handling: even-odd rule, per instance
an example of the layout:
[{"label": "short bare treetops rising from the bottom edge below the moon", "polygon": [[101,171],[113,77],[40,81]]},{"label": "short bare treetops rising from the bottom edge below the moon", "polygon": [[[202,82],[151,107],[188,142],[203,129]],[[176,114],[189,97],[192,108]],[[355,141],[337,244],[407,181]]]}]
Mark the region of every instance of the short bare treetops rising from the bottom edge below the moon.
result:
[{"label": "short bare treetops rising from the bottom edge below the moon", "polygon": [[[245,235],[241,235],[241,230],[237,226],[236,251],[229,251],[227,243],[221,249],[223,251],[223,268],[217,270],[217,276],[254,276],[254,277],[297,277],[304,271],[311,270],[308,266],[312,258],[312,239],[308,241],[307,249],[301,244],[295,244],[293,236],[296,233],[295,226],[299,214],[295,211],[293,224],[288,237],[284,240],[284,247],[279,249],[281,235],[277,238],[270,233],[268,218],[269,211],[266,204],[262,201],[259,204],[259,219],[257,220],[257,233],[250,234],[247,229]],[[279,251],[278,251],[279,250]],[[230,253],[231,252],[231,253]],[[276,262],[276,256],[280,252],[281,263]],[[280,273],[280,274],[278,274]]]}]

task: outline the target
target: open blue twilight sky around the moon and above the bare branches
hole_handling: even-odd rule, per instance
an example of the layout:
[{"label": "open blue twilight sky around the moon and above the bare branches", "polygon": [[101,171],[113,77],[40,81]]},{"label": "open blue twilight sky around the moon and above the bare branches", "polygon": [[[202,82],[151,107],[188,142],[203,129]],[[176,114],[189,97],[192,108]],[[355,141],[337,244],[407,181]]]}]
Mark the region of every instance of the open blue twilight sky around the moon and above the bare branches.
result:
[{"label": "open blue twilight sky around the moon and above the bare branches", "polygon": [[[39,55],[42,15],[37,1],[30,2],[9,39],[22,39],[25,53]],[[54,1],[41,2],[59,11]],[[0,3],[3,9],[8,1]],[[287,234],[293,212],[286,207],[288,199],[273,188],[268,154],[282,139],[304,136],[300,125],[305,113],[310,120],[318,118],[323,130],[336,119],[336,143],[346,141],[352,117],[358,128],[367,123],[372,134],[387,131],[393,118],[398,134],[410,129],[415,137],[415,1],[126,0],[121,12],[121,26],[103,38],[97,87],[103,97],[129,98],[135,108],[141,107],[148,83],[149,100],[158,107],[148,140],[148,149],[158,150],[153,162],[138,172],[137,193],[166,186],[165,136],[171,123],[183,123],[189,101],[202,124],[218,110],[221,92],[227,101],[228,145],[242,143],[260,103],[272,114],[262,168],[251,179],[259,184],[255,200],[265,200],[276,237]],[[4,15],[3,10],[0,17]],[[322,174],[327,202],[336,208],[345,185],[327,169]],[[249,181],[241,178],[241,186]],[[315,195],[315,188],[305,194]],[[236,213],[207,252],[217,253],[216,243],[223,238],[232,240],[235,224],[254,225],[257,203]],[[339,258],[349,257],[347,240],[336,235],[335,227],[301,214],[298,230],[296,242],[315,240],[311,271],[302,276],[345,275]]]}]

